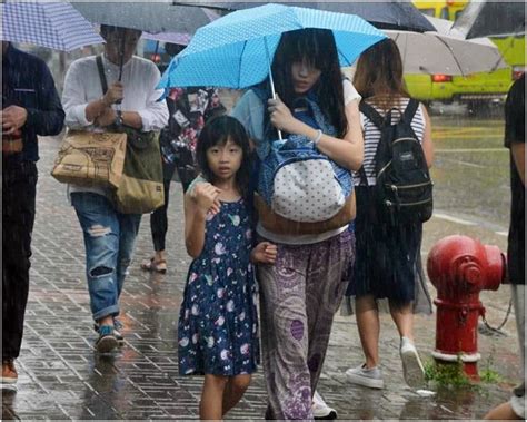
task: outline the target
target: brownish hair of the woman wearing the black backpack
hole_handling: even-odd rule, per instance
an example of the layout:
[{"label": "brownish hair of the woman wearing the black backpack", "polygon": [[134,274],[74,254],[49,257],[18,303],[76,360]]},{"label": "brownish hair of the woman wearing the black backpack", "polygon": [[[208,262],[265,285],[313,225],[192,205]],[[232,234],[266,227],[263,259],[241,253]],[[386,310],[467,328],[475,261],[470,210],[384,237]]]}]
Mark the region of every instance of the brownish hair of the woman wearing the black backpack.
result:
[{"label": "brownish hair of the woman wearing the black backpack", "polygon": [[388,110],[395,107],[401,97],[409,97],[402,72],[399,48],[388,38],[360,55],[354,86],[364,99],[375,97],[371,101]]}]

